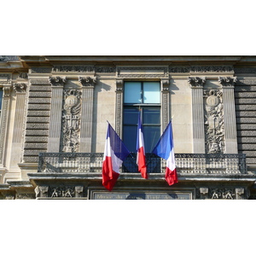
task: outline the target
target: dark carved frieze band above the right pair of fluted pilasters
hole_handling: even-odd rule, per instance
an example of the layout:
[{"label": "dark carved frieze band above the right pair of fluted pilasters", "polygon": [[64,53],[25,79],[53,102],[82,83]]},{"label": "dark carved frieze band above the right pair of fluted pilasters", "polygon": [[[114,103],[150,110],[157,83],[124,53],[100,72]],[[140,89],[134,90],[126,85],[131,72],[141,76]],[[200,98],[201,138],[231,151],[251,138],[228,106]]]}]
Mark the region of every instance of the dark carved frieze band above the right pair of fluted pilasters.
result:
[{"label": "dark carved frieze band above the right pair of fluted pilasters", "polygon": [[170,73],[231,73],[233,66],[177,66],[169,67]]}]

